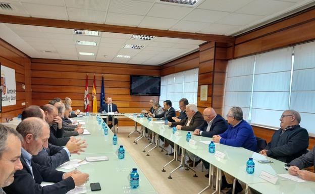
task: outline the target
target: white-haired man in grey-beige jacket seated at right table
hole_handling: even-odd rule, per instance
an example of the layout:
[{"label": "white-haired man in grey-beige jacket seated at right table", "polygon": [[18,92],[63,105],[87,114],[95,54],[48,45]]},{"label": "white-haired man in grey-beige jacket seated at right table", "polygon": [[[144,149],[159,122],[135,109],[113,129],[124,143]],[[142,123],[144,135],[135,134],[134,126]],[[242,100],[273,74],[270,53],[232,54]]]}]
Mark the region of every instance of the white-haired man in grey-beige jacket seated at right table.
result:
[{"label": "white-haired man in grey-beige jacket seated at right table", "polygon": [[179,122],[168,122],[169,126],[176,126],[178,130],[182,131],[194,131],[198,126],[203,123],[203,116],[198,111],[195,104],[188,104],[186,106],[187,117]]}]

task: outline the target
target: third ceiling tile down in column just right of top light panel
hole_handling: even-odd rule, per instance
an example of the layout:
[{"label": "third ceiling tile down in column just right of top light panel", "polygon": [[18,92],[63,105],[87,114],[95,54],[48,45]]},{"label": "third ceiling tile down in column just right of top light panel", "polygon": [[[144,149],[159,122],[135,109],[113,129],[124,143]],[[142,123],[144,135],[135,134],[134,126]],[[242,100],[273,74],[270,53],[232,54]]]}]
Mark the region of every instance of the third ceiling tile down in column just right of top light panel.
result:
[{"label": "third ceiling tile down in column just right of top light panel", "polygon": [[175,24],[172,28],[170,28],[170,30],[185,31],[185,32],[198,32],[202,28],[207,27],[209,25],[210,25],[209,23],[181,20],[177,24]]}]

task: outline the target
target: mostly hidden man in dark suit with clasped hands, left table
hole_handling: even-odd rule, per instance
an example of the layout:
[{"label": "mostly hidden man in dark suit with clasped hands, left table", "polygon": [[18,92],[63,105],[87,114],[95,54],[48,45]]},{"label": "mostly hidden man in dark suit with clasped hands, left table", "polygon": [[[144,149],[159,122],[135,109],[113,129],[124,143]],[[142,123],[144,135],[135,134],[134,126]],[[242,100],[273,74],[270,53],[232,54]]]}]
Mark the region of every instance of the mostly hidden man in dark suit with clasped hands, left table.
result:
[{"label": "mostly hidden man in dark suit with clasped hands, left table", "polygon": [[[38,117],[43,119],[45,116],[44,111],[39,106],[29,106],[22,112],[22,120],[28,117]],[[43,119],[44,120],[44,119]],[[76,140],[71,138],[65,147],[54,146],[48,144],[47,148],[43,148],[32,160],[40,165],[49,168],[57,168],[61,164],[69,161],[70,154],[82,152],[86,148],[85,141]]]}]

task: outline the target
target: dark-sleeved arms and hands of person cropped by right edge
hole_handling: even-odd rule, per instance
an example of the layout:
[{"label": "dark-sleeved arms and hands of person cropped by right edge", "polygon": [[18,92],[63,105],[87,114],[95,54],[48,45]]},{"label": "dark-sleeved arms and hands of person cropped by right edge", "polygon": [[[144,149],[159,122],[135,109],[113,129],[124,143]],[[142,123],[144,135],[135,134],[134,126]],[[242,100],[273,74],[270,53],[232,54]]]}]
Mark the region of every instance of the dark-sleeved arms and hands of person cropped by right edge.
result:
[{"label": "dark-sleeved arms and hands of person cropped by right edge", "polygon": [[315,181],[315,173],[302,170],[314,166],[315,170],[315,146],[308,153],[292,160],[290,163],[289,173],[294,176],[299,176],[303,180]]}]

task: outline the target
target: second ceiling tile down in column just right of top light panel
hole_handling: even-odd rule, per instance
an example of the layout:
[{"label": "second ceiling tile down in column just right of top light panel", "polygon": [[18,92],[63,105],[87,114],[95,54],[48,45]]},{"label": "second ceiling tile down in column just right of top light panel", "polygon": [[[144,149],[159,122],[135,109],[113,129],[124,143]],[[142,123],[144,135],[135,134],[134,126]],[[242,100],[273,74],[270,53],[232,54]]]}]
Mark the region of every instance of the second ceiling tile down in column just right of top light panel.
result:
[{"label": "second ceiling tile down in column just right of top light panel", "polygon": [[214,23],[227,15],[229,12],[194,9],[183,20]]}]

